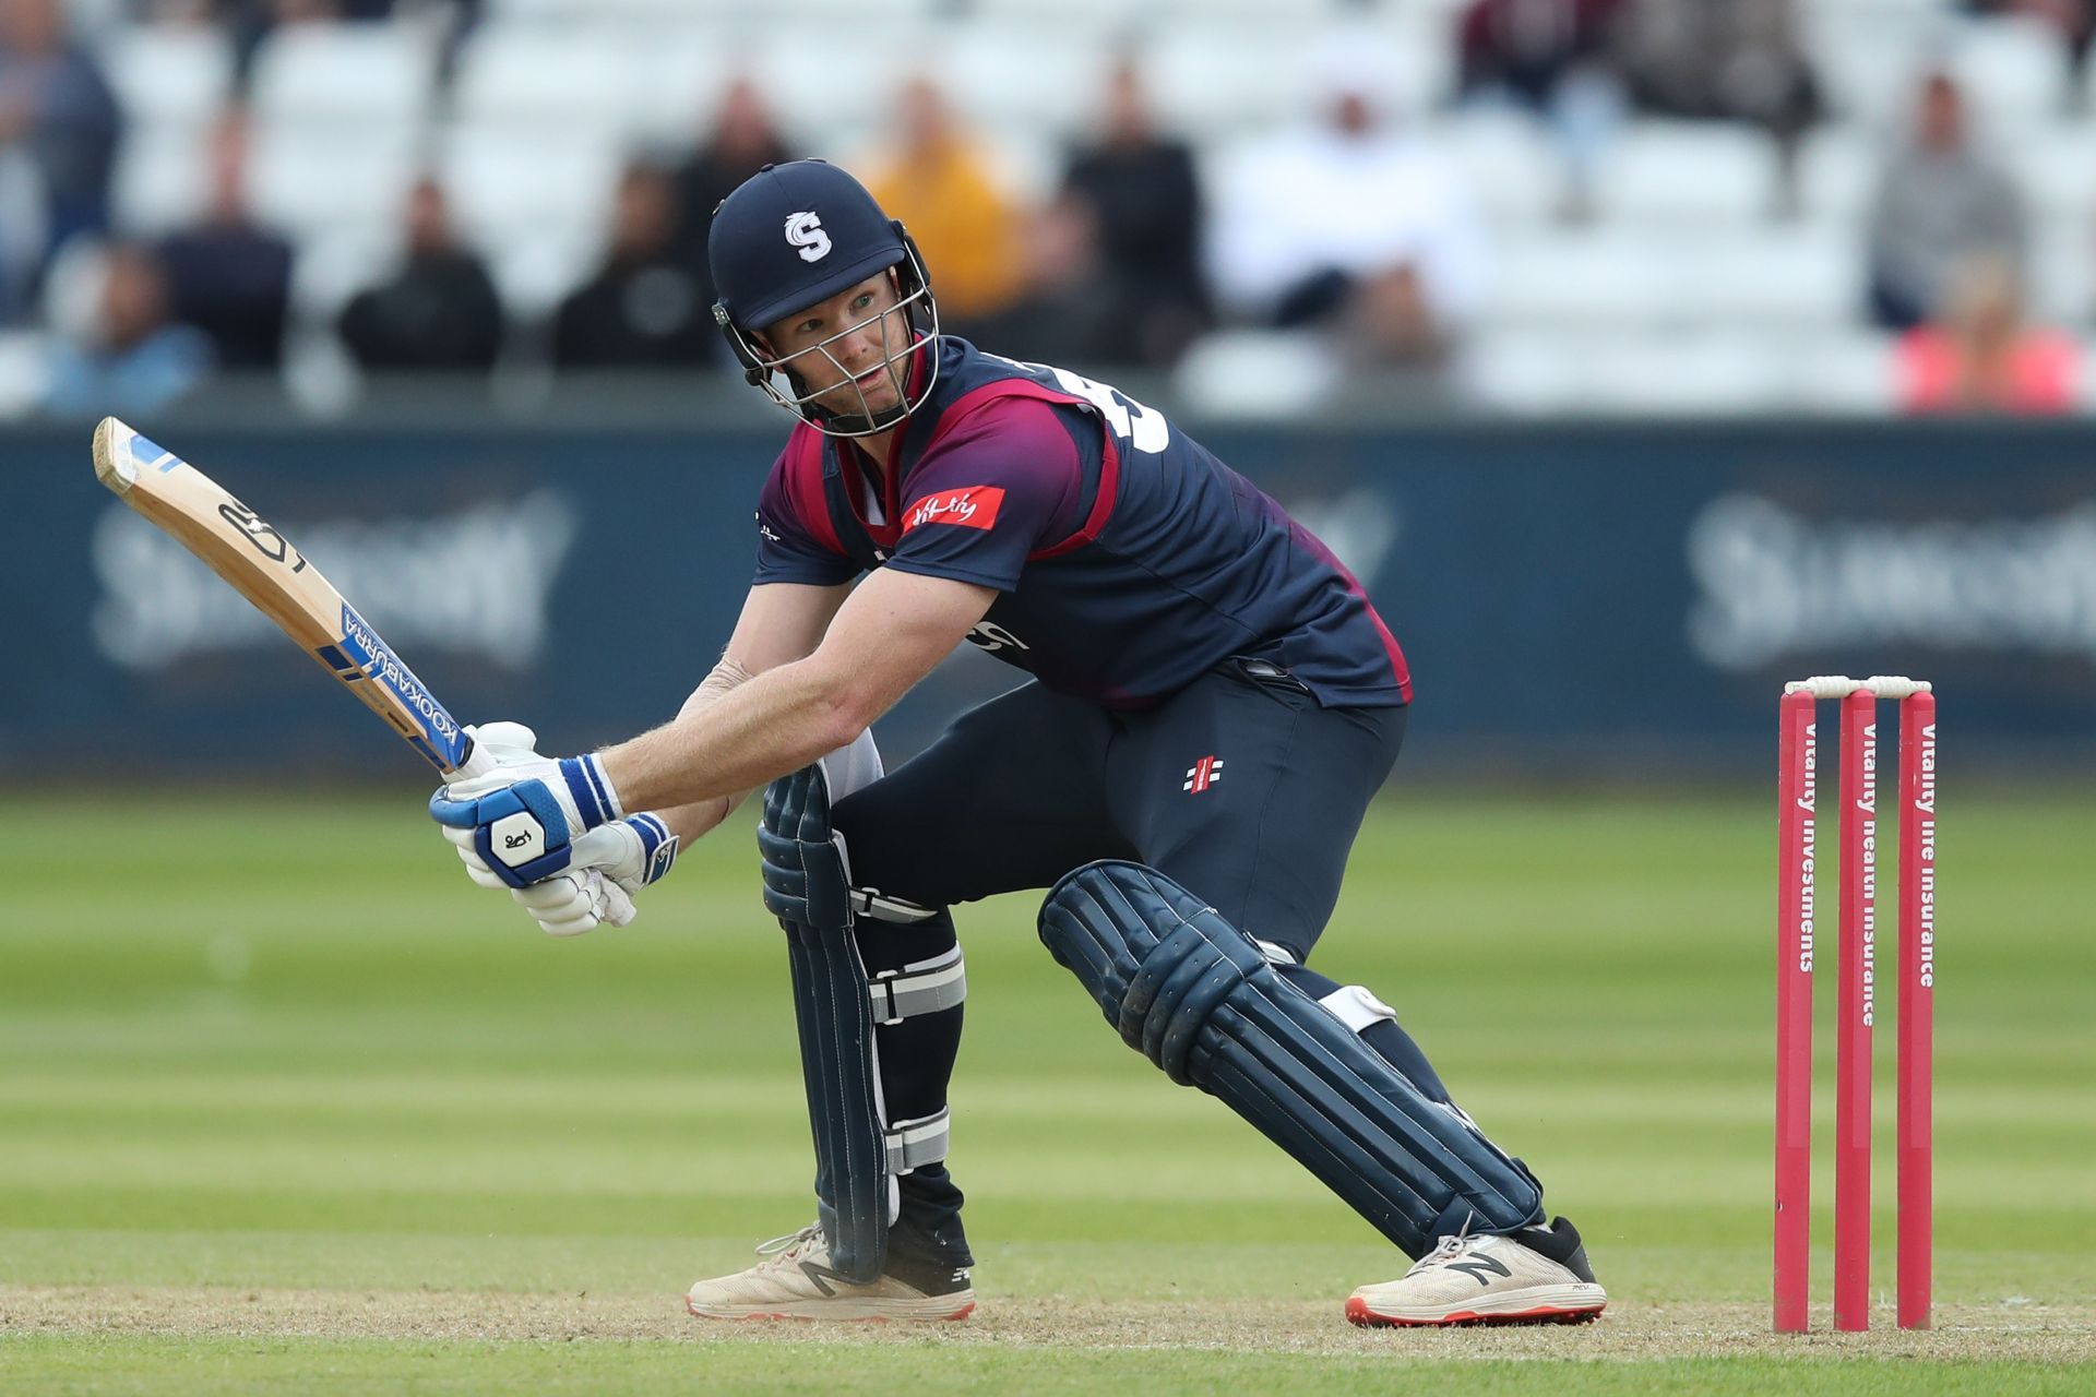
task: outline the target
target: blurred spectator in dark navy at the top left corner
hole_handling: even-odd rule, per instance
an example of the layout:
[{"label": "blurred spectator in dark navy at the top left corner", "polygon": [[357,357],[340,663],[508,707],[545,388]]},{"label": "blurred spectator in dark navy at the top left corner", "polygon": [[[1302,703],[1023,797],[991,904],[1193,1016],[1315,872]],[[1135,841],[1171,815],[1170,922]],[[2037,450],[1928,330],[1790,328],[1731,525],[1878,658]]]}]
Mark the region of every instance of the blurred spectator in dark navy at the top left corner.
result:
[{"label": "blurred spectator in dark navy at the top left corner", "polygon": [[46,249],[109,230],[117,101],[59,0],[0,0],[0,149],[19,147],[44,186]]}]

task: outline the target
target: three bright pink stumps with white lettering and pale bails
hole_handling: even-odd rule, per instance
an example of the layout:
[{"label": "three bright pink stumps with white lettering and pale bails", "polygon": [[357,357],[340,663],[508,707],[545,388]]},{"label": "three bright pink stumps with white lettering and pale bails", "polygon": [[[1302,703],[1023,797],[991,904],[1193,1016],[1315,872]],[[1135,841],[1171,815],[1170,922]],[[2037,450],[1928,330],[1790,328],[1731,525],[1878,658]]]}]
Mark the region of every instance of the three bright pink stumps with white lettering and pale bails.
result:
[{"label": "three bright pink stumps with white lettering and pale bails", "polygon": [[1878,702],[1899,702],[1899,1328],[1928,1328],[1933,1250],[1937,700],[1926,681],[1821,674],[1777,714],[1775,1328],[1807,1328],[1811,1286],[1813,966],[1819,700],[1840,700],[1834,1328],[1870,1328],[1870,1077],[1878,949]]}]

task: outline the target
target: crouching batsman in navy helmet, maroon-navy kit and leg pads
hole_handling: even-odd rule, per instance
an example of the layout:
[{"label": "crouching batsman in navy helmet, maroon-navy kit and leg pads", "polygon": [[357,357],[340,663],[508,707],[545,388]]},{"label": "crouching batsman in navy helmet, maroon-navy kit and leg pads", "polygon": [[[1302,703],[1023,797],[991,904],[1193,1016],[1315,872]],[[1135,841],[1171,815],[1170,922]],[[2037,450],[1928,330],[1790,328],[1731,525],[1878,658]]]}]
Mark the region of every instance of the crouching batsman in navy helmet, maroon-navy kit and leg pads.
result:
[{"label": "crouching batsman in navy helmet, maroon-navy kit and leg pads", "polygon": [[[1308,966],[1413,695],[1354,576],[1153,408],[941,335],[910,235],[836,165],[752,176],[708,258],[729,348],[796,417],[719,666],[587,756],[486,725],[493,773],[432,798],[476,882],[574,934],[629,922],[681,842],[765,790],[815,1221],[690,1311],[968,1315],[954,909],[1046,888],[1040,938],[1121,1039],[1411,1259],[1348,1320],[1597,1315],[1536,1177],[1388,1003]],[[1023,683],[882,773],[870,725],[962,641]]]}]

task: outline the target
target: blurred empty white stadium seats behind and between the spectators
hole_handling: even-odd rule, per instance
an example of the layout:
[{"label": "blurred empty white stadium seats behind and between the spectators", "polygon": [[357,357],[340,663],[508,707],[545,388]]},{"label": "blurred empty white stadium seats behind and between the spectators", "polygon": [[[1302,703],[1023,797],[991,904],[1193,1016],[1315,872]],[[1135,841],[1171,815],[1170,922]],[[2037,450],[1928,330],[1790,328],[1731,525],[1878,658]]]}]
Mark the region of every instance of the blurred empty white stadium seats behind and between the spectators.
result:
[{"label": "blurred empty white stadium seats behind and between the spectators", "polygon": [[[1123,50],[1207,170],[1314,115],[1335,73],[1373,71],[1390,113],[1448,151],[1490,230],[1490,289],[1465,356],[1484,402],[1876,411],[1884,346],[1861,329],[1863,220],[1916,75],[1947,63],[2029,193],[2035,308],[2075,331],[2096,310],[2096,117],[2071,101],[2062,48],[2035,21],[1972,19],[1949,0],[1800,0],[1832,119],[1800,147],[1794,201],[1759,132],[1645,119],[1601,149],[1591,218],[1564,222],[1566,161],[1543,124],[1450,105],[1463,4],[887,0],[872,6],[880,23],[853,29],[840,69],[820,36],[864,21],[857,0],[486,0],[449,84],[430,25],[296,25],[254,59],[249,189],[258,214],[298,239],[298,300],[325,320],[398,247],[405,191],[436,170],[463,235],[530,318],[602,253],[620,163],[687,149],[738,73],[801,149],[847,161],[880,140],[895,84],[929,73],[1000,153],[1014,193],[1046,199]],[[172,228],[208,193],[231,44],[208,27],[136,23],[109,23],[99,44],[130,117],[117,220]],[[1243,373],[1300,358],[1258,335],[1207,354]]]}]

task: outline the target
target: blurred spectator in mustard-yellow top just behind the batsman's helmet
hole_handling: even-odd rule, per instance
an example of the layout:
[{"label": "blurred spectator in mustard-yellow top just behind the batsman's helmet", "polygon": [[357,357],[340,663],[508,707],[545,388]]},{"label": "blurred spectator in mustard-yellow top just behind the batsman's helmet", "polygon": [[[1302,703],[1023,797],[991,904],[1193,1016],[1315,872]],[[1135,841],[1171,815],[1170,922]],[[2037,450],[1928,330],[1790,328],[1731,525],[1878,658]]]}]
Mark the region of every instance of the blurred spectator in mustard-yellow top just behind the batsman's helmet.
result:
[{"label": "blurred spectator in mustard-yellow top just behind the batsman's helmet", "polygon": [[941,329],[975,335],[1019,300],[1019,209],[991,157],[960,130],[931,80],[901,86],[893,149],[870,163],[866,186],[939,268]]}]

